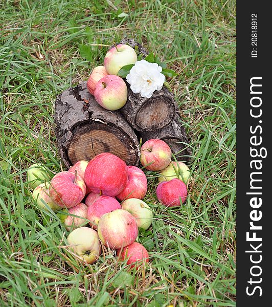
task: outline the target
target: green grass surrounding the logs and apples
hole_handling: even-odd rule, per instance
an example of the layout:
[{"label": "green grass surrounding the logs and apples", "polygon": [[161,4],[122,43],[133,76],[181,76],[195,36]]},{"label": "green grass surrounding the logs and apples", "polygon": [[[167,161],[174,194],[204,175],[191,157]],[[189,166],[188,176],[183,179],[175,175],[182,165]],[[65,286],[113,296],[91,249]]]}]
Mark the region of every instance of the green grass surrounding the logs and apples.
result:
[{"label": "green grass surrounding the logs and apples", "polygon": [[[236,304],[235,10],[232,0],[1,1],[1,306]],[[151,261],[139,271],[107,251],[82,266],[65,248],[56,214],[36,208],[25,184],[34,162],[51,176],[65,169],[56,95],[86,80],[125,36],[179,73],[168,81],[192,148],[185,206],[158,204],[147,172],[154,220],[140,241]]]}]

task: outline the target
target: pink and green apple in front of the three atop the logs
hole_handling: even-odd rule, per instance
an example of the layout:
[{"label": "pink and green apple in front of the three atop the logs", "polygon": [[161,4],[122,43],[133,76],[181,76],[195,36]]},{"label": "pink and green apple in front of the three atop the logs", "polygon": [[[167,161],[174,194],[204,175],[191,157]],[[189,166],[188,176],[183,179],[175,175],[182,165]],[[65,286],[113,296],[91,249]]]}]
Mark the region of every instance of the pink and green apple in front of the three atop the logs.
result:
[{"label": "pink and green apple in front of the three atop the logs", "polygon": [[127,102],[127,86],[119,76],[106,75],[96,83],[94,95],[103,108],[115,111]]}]

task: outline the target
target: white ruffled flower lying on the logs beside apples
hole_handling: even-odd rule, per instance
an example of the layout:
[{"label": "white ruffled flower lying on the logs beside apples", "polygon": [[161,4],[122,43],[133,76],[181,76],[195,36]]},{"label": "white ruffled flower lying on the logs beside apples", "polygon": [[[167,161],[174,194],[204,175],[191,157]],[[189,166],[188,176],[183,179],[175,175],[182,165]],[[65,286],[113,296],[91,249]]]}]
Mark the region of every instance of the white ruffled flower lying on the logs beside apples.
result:
[{"label": "white ruffled flower lying on the logs beside apples", "polygon": [[162,67],[146,60],[135,62],[127,75],[127,82],[133,93],[150,98],[154,91],[160,91],[164,85],[165,76],[161,74]]}]

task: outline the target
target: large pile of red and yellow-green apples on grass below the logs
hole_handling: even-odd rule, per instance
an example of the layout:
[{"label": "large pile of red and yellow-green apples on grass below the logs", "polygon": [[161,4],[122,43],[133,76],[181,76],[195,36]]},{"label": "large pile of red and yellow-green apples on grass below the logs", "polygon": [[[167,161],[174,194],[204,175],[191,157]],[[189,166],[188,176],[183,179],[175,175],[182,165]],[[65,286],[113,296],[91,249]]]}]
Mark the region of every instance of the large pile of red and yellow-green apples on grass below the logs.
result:
[{"label": "large pile of red and yellow-green apples on grass below the logs", "polygon": [[[151,139],[141,147],[142,166],[160,172],[156,195],[167,207],[185,203],[190,175],[183,162],[171,162],[171,157],[170,147],[162,140]],[[36,204],[58,211],[70,232],[67,240],[76,257],[92,264],[103,244],[116,250],[118,259],[127,260],[131,266],[149,261],[145,247],[135,242],[139,229],[148,229],[153,218],[151,208],[143,201],[147,178],[140,168],[127,166],[119,157],[103,152],[90,161],[78,161],[51,181],[44,178],[48,174],[39,165],[29,168],[28,182],[34,188]]]}]

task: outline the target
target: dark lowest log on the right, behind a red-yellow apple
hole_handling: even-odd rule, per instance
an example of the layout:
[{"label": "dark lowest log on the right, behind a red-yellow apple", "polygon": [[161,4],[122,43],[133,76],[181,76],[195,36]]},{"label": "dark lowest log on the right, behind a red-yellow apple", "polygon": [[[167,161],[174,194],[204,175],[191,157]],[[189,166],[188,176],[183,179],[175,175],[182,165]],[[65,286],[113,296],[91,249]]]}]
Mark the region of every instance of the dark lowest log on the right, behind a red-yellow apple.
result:
[{"label": "dark lowest log on the right, behind a red-yellow apple", "polygon": [[150,139],[161,139],[165,141],[171,148],[175,157],[179,161],[190,161],[192,151],[188,145],[185,128],[181,122],[179,114],[166,128],[154,131],[142,131],[139,133],[142,142]]}]

